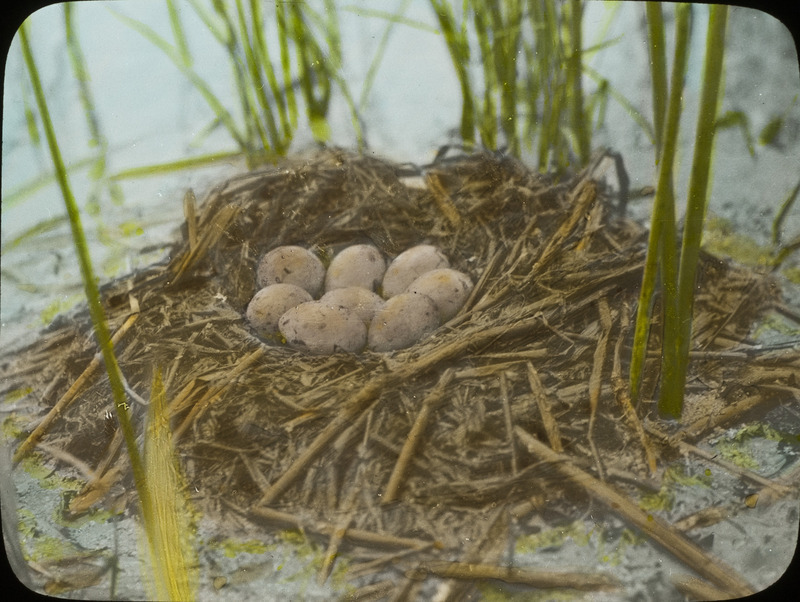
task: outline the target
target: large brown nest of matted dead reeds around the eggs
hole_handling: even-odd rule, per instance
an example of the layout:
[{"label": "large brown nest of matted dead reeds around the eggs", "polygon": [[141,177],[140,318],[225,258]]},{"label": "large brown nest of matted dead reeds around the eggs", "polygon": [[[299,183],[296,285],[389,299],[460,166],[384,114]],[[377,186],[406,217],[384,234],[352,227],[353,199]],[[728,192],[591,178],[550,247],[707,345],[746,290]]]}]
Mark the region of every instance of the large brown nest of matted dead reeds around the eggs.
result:
[{"label": "large brown nest of matted dead reeds around the eggs", "polygon": [[[222,524],[302,528],[331,558],[349,550],[364,561],[354,572],[364,595],[413,597],[453,580],[458,597],[480,578],[613,588],[607,574],[500,562],[512,525],[574,520],[591,500],[717,591],[750,591],[633,500],[658,489],[686,445],[798,399],[797,353],[747,339],[779,292],[703,255],[684,420],[659,421],[652,401],[657,318],[642,401],[631,400],[647,232],[601,183],[607,160],[556,179],[497,154],[420,168],[327,151],[235,177],[199,207],[187,195],[168,258],[102,289],[134,424],[159,370],[195,506]],[[474,291],[432,336],[393,353],[314,356],[255,336],[243,314],[264,252],[300,244],[330,257],[359,242],[389,257],[434,244]],[[38,445],[55,464],[92,470],[71,514],[134,498],[97,353],[83,308],[0,361],[6,392],[29,388],[45,416],[17,458]]]}]

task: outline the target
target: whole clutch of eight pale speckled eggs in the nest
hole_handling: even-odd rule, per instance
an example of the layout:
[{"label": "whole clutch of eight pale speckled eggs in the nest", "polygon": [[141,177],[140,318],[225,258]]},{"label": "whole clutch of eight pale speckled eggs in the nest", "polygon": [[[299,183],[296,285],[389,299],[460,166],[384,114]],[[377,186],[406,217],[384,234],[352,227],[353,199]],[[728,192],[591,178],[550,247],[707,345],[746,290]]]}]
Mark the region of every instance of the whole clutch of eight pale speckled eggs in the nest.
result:
[{"label": "whole clutch of eight pale speckled eggs in the nest", "polygon": [[256,334],[315,354],[410,347],[453,318],[473,287],[432,245],[387,265],[370,244],[341,250],[327,270],[304,247],[277,247],[259,262],[256,284],[245,313]]}]

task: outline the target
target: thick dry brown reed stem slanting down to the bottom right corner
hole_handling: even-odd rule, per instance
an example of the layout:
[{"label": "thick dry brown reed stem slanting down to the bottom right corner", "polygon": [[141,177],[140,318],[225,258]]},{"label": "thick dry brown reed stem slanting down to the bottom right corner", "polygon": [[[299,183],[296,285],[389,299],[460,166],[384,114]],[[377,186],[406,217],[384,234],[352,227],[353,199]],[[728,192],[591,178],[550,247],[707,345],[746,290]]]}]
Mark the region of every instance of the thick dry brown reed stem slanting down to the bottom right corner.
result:
[{"label": "thick dry brown reed stem slanting down to the bottom right corner", "polygon": [[731,596],[749,596],[754,593],[752,586],[742,579],[731,567],[719,558],[705,552],[695,543],[687,539],[666,521],[652,516],[639,508],[630,499],[599,481],[589,473],[575,466],[569,457],[558,454],[540,443],[534,436],[521,427],[516,434],[528,451],[551,462],[559,472],[586,492],[609,507],[632,525],[641,529],[648,537],[658,543],[678,560],[712,583],[716,584]]}]

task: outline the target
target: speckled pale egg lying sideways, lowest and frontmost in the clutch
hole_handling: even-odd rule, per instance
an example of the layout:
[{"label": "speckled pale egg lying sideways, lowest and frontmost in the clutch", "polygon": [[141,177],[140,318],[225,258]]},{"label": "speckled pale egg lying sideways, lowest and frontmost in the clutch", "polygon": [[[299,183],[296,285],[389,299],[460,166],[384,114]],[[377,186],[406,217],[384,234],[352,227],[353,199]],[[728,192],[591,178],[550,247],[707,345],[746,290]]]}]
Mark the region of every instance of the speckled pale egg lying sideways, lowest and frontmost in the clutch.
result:
[{"label": "speckled pale egg lying sideways, lowest and frontmost in the clutch", "polygon": [[367,327],[355,313],[321,301],[288,310],[278,328],[290,347],[320,355],[358,353],[367,343]]}]

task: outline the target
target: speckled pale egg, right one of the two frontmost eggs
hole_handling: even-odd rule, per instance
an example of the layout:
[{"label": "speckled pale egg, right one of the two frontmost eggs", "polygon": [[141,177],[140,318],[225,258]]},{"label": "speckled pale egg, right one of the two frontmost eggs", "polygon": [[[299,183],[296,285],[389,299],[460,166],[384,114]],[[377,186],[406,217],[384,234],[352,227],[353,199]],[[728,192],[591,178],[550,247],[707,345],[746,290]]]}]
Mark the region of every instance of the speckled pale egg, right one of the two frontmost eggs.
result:
[{"label": "speckled pale egg, right one of the two frontmost eggs", "polygon": [[389,299],[369,325],[373,351],[410,347],[439,326],[439,310],[426,295],[401,293]]}]

